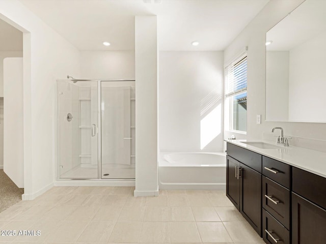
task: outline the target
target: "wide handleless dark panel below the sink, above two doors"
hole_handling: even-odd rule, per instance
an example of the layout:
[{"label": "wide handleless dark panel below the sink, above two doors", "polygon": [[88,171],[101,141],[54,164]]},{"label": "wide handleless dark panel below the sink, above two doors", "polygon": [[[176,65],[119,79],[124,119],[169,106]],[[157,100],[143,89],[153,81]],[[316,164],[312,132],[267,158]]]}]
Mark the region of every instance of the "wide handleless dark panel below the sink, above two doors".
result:
[{"label": "wide handleless dark panel below the sink, above two doors", "polygon": [[261,155],[240,146],[226,143],[227,154],[261,173]]}]

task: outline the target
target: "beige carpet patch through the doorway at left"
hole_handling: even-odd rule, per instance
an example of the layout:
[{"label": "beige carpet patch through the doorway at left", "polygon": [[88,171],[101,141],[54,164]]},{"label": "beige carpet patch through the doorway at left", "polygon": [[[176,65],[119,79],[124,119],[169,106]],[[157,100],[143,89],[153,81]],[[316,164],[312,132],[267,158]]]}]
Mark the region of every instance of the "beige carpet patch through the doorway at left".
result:
[{"label": "beige carpet patch through the doorway at left", "polygon": [[8,177],[3,169],[0,169],[0,212],[21,201],[23,188],[18,188]]}]

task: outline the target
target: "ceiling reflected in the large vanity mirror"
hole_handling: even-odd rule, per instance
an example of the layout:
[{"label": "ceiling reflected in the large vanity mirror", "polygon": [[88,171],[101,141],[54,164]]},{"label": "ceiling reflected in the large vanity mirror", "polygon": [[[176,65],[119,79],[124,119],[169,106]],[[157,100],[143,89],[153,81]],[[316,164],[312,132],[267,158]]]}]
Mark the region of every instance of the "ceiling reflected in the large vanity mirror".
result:
[{"label": "ceiling reflected in the large vanity mirror", "polygon": [[268,51],[288,51],[326,32],[326,1],[303,2],[266,34]]}]

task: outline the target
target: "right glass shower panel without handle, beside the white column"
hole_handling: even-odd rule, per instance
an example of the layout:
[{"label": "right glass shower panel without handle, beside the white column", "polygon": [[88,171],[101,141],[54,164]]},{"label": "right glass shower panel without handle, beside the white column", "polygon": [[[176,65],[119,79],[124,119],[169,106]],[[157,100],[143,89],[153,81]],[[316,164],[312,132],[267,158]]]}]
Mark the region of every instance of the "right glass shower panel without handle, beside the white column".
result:
[{"label": "right glass shower panel without handle, beside the white column", "polygon": [[101,81],[101,178],[135,178],[134,81]]}]

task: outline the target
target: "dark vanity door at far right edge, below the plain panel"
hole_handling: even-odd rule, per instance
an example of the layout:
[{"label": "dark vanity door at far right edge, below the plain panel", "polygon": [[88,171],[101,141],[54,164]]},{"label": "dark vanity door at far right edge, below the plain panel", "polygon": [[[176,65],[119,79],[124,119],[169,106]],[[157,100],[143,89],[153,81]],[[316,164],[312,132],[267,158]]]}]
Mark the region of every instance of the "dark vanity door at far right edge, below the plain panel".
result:
[{"label": "dark vanity door at far right edge, below the plain panel", "polygon": [[326,210],[292,193],[292,244],[325,244]]}]

